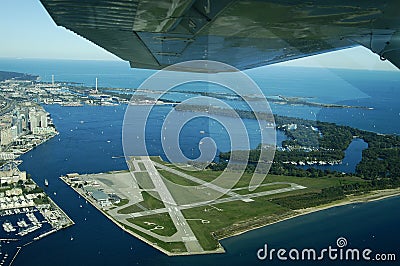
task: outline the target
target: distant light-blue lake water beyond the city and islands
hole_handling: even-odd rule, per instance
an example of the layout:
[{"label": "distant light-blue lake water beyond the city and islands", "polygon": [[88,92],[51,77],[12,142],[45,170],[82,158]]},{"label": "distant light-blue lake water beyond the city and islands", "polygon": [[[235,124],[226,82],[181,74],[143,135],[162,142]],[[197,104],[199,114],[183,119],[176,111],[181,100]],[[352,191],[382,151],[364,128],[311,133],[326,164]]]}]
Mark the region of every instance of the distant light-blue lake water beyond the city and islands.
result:
[{"label": "distant light-blue lake water beyond the city and islands", "polygon": [[[119,61],[0,59],[0,70],[36,74],[43,81],[79,82],[100,87],[137,88],[150,70]],[[268,66],[246,71],[267,96],[305,97],[310,101],[374,108],[332,109],[270,103],[274,113],[331,121],[379,133],[400,134],[399,71],[359,71]],[[382,118],[385,119],[382,119]]]}]

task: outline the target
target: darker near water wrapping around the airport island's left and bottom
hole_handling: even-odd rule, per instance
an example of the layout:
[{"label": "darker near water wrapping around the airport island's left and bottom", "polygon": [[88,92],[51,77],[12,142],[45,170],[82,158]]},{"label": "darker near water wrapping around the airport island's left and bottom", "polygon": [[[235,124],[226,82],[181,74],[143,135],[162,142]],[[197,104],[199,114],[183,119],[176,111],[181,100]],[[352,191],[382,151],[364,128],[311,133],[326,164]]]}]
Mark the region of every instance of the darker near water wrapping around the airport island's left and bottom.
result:
[{"label": "darker near water wrapping around the airport island's left and bottom", "polygon": [[49,180],[48,193],[76,225],[24,247],[14,265],[255,264],[255,253],[264,243],[318,248],[334,244],[339,236],[355,247],[396,251],[393,245],[400,234],[390,228],[397,227],[400,198],[334,208],[229,238],[222,241],[227,250],[223,255],[169,258],[124,233],[58,179],[70,172],[126,169],[123,159],[112,159],[122,152],[119,119],[124,106],[53,105],[46,110],[52,113],[60,134],[23,155],[21,169],[31,173],[38,184]]}]

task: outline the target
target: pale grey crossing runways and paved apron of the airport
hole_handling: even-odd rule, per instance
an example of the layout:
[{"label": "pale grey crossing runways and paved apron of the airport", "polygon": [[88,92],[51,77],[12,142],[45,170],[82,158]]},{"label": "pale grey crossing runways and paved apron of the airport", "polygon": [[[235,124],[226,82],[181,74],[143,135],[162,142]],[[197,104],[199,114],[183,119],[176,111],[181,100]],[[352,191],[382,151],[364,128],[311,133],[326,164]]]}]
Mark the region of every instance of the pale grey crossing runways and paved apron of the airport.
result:
[{"label": "pale grey crossing runways and paved apron of the airport", "polygon": [[[104,192],[106,193],[115,193],[117,194],[120,198],[128,199],[129,204],[115,207],[113,206],[110,209],[106,209],[108,214],[113,217],[116,221],[125,224],[129,227],[132,227],[138,231],[141,231],[149,236],[152,236],[154,238],[157,238],[163,242],[183,242],[186,246],[186,249],[189,253],[209,253],[207,251],[204,251],[203,248],[201,247],[198,239],[196,238],[195,234],[193,233],[192,229],[190,228],[187,220],[182,214],[182,210],[185,209],[190,209],[194,207],[200,207],[200,206],[210,206],[214,207],[214,204],[219,204],[219,203],[225,203],[225,202],[232,202],[232,201],[237,201],[241,200],[244,202],[251,202],[253,201],[252,198],[256,197],[262,197],[266,195],[273,195],[273,194],[278,194],[278,193],[284,193],[284,192],[289,192],[293,190],[298,190],[298,189],[304,189],[306,187],[294,184],[294,183],[287,183],[287,182],[275,182],[275,183],[268,183],[268,184],[262,184],[261,186],[270,186],[274,184],[289,184],[290,187],[287,188],[282,188],[282,189],[275,189],[275,190],[268,190],[268,191],[262,191],[262,192],[257,192],[257,193],[249,193],[246,195],[240,195],[236,193],[235,191],[238,190],[243,190],[246,189],[247,187],[243,188],[235,188],[233,190],[228,191],[225,188],[221,188],[217,186],[216,184],[208,183],[206,181],[203,181],[199,178],[193,177],[191,175],[188,175],[186,173],[180,172],[176,169],[170,168],[168,166],[165,166],[163,164],[154,162],[150,160],[148,156],[142,156],[142,157],[134,157],[131,158],[131,160],[128,162],[131,171],[133,172],[134,175],[130,172],[113,172],[113,173],[108,173],[108,174],[96,174],[96,175],[86,175],[84,178],[88,178],[88,180],[96,180],[98,184],[102,187]],[[141,168],[139,167],[139,164],[142,166]],[[144,166],[144,167],[143,167]],[[187,180],[190,180],[192,182],[195,182],[196,184],[199,184],[202,188],[204,188],[204,191],[208,192],[219,192],[219,193],[224,193],[228,197],[223,197],[219,198],[213,201],[199,201],[199,202],[194,202],[190,204],[177,204],[176,199],[174,198],[177,197],[176,192],[170,191],[164,182],[164,178],[159,174],[159,172],[156,169],[156,166],[166,170],[168,172],[173,173],[174,175],[180,176],[182,178],[185,178]],[[145,168],[145,169],[143,169]],[[148,175],[148,178],[151,179],[151,182],[154,185],[154,189],[147,189],[146,191],[156,191],[159,194],[160,200],[163,201],[165,207],[164,208],[159,208],[155,210],[147,210],[143,205],[141,205],[141,202],[143,202],[143,196],[142,196],[142,189],[138,186],[138,182],[136,180],[135,173],[139,172],[146,172]],[[150,182],[150,181],[149,181]],[[93,202],[93,204],[96,204],[96,202]],[[132,206],[135,204],[139,209],[142,209],[142,211],[137,211],[129,214],[121,214],[118,213],[121,209],[127,208],[128,206]],[[249,203],[250,204],[250,203]],[[216,207],[214,207],[216,208]],[[160,214],[160,213],[168,213],[177,232],[172,235],[172,236],[161,236],[156,233],[156,231],[148,230],[145,229],[141,226],[138,226],[136,224],[133,224],[131,222],[128,222],[127,219],[129,218],[136,218],[136,217],[143,217],[143,216],[148,216],[148,215],[154,215],[154,214]]]}]

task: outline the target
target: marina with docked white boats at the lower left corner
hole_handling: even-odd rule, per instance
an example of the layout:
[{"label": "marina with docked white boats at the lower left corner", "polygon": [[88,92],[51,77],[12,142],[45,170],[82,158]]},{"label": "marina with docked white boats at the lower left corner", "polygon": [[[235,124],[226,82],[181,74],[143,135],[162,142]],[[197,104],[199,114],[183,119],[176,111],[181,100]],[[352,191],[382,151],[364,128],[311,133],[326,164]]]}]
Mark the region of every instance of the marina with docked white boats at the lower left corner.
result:
[{"label": "marina with docked white boats at the lower left corner", "polygon": [[30,178],[2,187],[0,220],[0,266],[11,265],[22,247],[74,224]]}]

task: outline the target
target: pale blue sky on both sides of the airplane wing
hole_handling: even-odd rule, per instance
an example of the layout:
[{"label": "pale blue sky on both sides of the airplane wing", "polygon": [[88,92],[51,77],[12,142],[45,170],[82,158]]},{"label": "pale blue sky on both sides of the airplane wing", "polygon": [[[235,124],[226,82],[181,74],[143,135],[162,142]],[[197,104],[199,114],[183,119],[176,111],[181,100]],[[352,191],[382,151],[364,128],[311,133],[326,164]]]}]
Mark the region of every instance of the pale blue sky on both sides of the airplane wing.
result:
[{"label": "pale blue sky on both sides of the airplane wing", "polygon": [[[0,58],[121,60],[103,48],[58,27],[39,0],[1,0]],[[283,66],[398,70],[363,47],[325,53]]]}]

